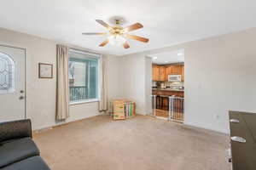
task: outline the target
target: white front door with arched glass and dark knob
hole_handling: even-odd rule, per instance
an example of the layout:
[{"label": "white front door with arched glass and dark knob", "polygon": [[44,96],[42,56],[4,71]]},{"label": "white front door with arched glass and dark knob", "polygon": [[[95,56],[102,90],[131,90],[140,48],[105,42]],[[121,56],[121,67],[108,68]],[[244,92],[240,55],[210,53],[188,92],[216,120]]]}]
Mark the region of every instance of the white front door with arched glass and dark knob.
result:
[{"label": "white front door with arched glass and dark knob", "polygon": [[0,45],[0,122],[26,118],[25,53]]}]

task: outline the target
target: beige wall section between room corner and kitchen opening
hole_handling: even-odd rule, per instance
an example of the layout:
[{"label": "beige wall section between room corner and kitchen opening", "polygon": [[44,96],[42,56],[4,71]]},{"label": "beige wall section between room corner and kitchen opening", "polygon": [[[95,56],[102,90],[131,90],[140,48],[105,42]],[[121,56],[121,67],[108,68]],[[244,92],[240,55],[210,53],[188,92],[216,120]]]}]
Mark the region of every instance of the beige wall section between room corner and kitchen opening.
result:
[{"label": "beige wall section between room corner and kitchen opening", "polygon": [[119,98],[136,102],[137,114],[151,112],[152,62],[144,54],[119,56]]}]

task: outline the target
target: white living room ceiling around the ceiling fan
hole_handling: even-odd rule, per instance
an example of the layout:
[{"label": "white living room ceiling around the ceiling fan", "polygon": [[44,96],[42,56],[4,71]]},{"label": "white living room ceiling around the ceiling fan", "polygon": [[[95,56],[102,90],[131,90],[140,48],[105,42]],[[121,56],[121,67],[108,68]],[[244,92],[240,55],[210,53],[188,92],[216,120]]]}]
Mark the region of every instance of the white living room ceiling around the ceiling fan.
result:
[{"label": "white living room ceiling around the ceiling fan", "polygon": [[[1,0],[0,27],[122,55],[255,27],[255,8],[255,0]],[[132,34],[150,41],[100,48],[106,37],[81,35],[106,31],[95,19],[114,15],[125,17],[125,26],[142,23]]]}]

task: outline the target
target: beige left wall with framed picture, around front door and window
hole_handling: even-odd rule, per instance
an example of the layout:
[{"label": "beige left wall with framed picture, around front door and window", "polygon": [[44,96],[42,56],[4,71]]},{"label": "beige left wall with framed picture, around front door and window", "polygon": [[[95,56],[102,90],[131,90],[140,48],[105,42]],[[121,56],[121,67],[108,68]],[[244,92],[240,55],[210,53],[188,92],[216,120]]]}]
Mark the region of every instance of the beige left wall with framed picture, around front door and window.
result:
[{"label": "beige left wall with framed picture, around front door and window", "polygon": [[[26,115],[33,129],[55,125],[57,42],[0,28],[0,44],[26,48]],[[38,63],[54,65],[53,79],[38,78]],[[98,115],[98,103],[71,105],[67,122]]]}]

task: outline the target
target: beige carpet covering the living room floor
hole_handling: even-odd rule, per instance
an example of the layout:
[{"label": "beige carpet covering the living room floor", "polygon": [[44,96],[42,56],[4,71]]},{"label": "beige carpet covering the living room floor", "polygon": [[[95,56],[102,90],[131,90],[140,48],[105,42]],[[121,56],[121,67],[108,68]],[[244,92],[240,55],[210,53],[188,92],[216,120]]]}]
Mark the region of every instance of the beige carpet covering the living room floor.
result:
[{"label": "beige carpet covering the living room floor", "polygon": [[34,140],[52,170],[230,170],[227,135],[150,116],[95,116]]}]

